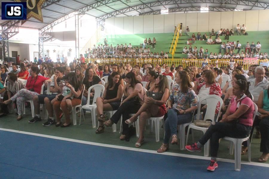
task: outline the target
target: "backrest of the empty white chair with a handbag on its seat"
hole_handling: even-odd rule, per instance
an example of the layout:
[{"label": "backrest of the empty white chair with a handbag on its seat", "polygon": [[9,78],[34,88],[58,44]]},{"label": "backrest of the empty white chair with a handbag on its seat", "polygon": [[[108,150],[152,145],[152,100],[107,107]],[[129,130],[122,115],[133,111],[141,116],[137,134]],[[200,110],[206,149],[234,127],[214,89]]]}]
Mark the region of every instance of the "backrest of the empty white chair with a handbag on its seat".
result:
[{"label": "backrest of the empty white chair with a handbag on its seat", "polygon": [[[223,100],[221,99],[221,97],[219,97],[217,95],[207,95],[207,96],[204,96],[203,98],[199,99],[196,119],[200,119],[201,102],[204,100],[207,101],[207,111],[206,111],[206,114],[204,116],[204,120],[210,119],[213,121],[213,124],[214,124],[215,123],[215,110],[217,108],[218,103],[220,103],[220,107],[222,106]],[[217,119],[220,115],[220,112],[221,112],[221,110],[219,109]]]}]

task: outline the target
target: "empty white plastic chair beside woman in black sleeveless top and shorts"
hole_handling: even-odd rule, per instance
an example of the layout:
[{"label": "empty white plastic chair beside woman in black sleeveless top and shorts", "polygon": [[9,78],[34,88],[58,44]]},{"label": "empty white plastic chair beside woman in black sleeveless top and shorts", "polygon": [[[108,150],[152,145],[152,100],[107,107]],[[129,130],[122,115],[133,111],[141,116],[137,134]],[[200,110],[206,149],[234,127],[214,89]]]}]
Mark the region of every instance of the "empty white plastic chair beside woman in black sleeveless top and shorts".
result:
[{"label": "empty white plastic chair beside woman in black sleeveless top and shorts", "polygon": [[[94,98],[93,98],[93,102],[92,104],[90,104],[90,92],[91,92],[91,89],[94,89]],[[95,84],[91,87],[89,87],[88,89],[88,100],[87,100],[87,104],[83,105],[81,108],[80,108],[80,122],[81,122],[81,115],[82,115],[82,109],[88,109],[91,111],[91,120],[92,120],[92,127],[95,128],[96,127],[96,117],[95,117],[95,111],[96,111],[96,99],[98,97],[101,96],[101,94],[103,94],[105,90],[105,87],[102,85],[102,84]],[[85,120],[85,117],[83,115],[83,119]]]}]

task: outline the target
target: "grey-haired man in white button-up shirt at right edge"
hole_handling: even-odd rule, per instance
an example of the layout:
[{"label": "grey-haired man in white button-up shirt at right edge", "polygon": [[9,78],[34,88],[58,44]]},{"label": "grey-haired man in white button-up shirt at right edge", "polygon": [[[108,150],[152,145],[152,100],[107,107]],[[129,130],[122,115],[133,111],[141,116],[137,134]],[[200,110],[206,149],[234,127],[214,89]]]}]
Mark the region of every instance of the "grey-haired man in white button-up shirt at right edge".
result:
[{"label": "grey-haired man in white button-up shirt at right edge", "polygon": [[253,95],[253,102],[257,103],[260,92],[268,89],[269,81],[264,78],[265,70],[263,67],[256,67],[255,78],[248,80],[250,82],[249,92]]}]

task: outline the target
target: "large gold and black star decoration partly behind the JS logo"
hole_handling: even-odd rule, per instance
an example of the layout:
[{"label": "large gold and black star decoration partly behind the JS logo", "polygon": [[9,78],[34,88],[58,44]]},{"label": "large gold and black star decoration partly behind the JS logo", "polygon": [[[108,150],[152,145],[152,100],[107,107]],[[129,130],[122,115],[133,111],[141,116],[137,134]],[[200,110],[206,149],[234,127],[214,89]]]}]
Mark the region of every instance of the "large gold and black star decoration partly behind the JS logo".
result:
[{"label": "large gold and black star decoration partly behind the JS logo", "polygon": [[[16,2],[26,2],[27,3],[27,20],[31,17],[43,22],[41,6],[45,0],[15,0]],[[23,20],[24,24],[27,20]]]}]

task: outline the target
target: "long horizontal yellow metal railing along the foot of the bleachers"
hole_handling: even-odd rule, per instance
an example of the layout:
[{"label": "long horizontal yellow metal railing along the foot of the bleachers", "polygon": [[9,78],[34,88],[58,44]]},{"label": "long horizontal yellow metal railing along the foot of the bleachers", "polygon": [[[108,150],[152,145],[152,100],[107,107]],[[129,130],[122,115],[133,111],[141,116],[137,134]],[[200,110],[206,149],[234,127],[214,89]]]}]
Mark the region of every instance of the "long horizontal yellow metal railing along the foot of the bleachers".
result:
[{"label": "long horizontal yellow metal railing along the foot of the bleachers", "polygon": [[[159,64],[166,64],[167,66],[171,67],[172,64],[175,65],[175,67],[177,67],[178,65],[182,65],[183,68],[189,67],[189,66],[196,66],[196,67],[202,67],[202,63],[204,62],[203,59],[138,59],[138,58],[86,58],[85,62],[86,63],[93,63],[97,61],[100,65],[104,65],[104,64],[131,64],[132,67],[134,67],[135,65],[139,65],[140,67],[142,67],[143,64],[151,64],[154,67]],[[208,65],[210,65],[210,67],[227,67],[227,65],[229,65],[230,60],[216,60],[216,59],[212,59],[212,60],[208,60],[207,63]],[[242,67],[244,67],[244,70],[248,70],[250,65],[250,63],[244,63],[244,60],[235,60],[235,62],[238,65],[241,65]],[[267,62],[265,60],[258,60],[256,64],[260,64],[261,62]]]}]

